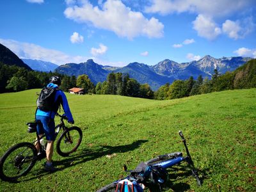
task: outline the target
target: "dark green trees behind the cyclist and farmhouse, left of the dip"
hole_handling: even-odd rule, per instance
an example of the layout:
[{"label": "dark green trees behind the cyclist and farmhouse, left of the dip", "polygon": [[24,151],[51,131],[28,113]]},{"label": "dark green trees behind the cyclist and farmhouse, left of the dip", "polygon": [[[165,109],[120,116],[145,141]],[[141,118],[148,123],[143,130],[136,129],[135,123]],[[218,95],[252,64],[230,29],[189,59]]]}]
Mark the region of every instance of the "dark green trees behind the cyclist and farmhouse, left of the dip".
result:
[{"label": "dark green trees behind the cyclist and farmhouse, left of the dip", "polygon": [[140,84],[129,75],[122,73],[111,73],[103,83],[92,83],[90,78],[83,74],[81,76],[67,76],[56,72],[38,72],[27,70],[15,65],[4,65],[0,63],[0,93],[20,92],[23,90],[42,88],[52,76],[61,77],[61,89],[68,92],[70,88],[84,88],[84,93],[124,95],[129,97],[154,98],[154,92],[148,84]]}]

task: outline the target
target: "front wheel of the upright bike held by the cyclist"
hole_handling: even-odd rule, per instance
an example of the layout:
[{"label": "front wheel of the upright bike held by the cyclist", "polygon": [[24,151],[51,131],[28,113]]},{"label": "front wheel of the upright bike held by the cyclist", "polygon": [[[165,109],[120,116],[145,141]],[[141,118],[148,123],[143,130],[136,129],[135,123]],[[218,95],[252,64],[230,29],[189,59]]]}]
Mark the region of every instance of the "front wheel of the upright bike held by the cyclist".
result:
[{"label": "front wheel of the upright bike held by the cyclist", "polygon": [[[77,137],[74,140],[74,137]],[[75,152],[83,139],[83,132],[79,127],[70,127],[66,129],[57,141],[56,150],[60,156],[67,157]],[[74,144],[74,145],[73,145]]]}]

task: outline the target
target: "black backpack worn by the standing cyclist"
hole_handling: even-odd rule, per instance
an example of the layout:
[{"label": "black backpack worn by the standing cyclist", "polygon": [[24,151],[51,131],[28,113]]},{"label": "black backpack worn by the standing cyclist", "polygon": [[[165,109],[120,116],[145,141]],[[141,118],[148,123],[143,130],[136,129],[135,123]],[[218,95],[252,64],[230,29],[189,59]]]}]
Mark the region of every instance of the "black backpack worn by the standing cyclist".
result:
[{"label": "black backpack worn by the standing cyclist", "polygon": [[54,109],[54,97],[56,89],[44,87],[36,100],[36,106],[42,111],[52,111]]}]

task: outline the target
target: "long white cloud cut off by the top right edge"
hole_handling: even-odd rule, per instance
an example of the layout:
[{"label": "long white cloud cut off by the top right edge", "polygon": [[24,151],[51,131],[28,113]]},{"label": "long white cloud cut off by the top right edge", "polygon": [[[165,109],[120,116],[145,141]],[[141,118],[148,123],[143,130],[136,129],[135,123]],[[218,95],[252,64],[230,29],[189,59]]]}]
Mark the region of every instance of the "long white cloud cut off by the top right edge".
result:
[{"label": "long white cloud cut off by the top right edge", "polygon": [[152,4],[145,8],[147,13],[192,12],[207,15],[209,17],[222,17],[230,13],[236,13],[243,8],[255,5],[253,0],[152,0]]}]

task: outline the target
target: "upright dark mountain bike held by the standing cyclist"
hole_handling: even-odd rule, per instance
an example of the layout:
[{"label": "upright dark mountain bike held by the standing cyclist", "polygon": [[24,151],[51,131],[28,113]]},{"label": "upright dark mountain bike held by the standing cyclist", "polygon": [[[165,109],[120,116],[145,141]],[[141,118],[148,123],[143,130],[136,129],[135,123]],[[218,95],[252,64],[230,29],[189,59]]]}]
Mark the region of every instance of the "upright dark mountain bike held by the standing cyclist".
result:
[{"label": "upright dark mountain bike held by the standing cyclist", "polygon": [[[64,120],[67,120],[67,116],[59,115],[60,124],[55,127],[55,135],[57,136],[60,130],[63,132],[58,138],[56,143],[56,151],[60,156],[67,157],[72,152],[75,152],[81,144],[83,133],[79,127],[67,127]],[[45,149],[46,145],[42,145],[42,140],[45,138],[45,134],[38,135],[36,126],[42,126],[41,122],[29,122],[28,132],[36,132],[36,140],[29,143],[17,143],[10,147],[0,159],[0,178],[5,181],[13,181],[19,179],[19,177],[26,175],[31,168],[35,165],[36,161],[40,161],[46,157]],[[41,142],[40,142],[41,141]],[[36,149],[38,145],[39,150]]]}]

